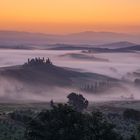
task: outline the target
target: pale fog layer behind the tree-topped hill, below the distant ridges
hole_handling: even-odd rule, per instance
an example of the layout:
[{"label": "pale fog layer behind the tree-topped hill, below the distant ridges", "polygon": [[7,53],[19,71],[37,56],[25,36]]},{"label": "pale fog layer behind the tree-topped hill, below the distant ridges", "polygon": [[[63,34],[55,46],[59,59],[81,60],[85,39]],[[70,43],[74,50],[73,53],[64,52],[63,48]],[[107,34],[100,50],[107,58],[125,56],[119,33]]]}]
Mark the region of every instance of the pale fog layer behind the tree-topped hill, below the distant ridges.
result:
[{"label": "pale fog layer behind the tree-topped hill, below the distant ridges", "polygon": [[66,54],[82,54],[81,51],[52,51],[52,50],[1,50],[0,67],[21,65],[28,58],[49,57],[58,66],[82,69],[121,78],[128,72],[140,69],[140,53],[95,53],[94,57],[108,60],[83,61],[83,59],[60,57]]}]

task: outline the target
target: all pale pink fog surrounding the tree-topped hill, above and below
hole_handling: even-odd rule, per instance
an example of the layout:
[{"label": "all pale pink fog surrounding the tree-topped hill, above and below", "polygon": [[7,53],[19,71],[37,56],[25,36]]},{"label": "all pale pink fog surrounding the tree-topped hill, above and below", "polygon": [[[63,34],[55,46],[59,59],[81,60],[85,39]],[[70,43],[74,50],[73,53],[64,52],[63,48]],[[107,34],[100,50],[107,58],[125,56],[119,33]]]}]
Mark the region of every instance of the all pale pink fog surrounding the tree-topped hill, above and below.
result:
[{"label": "all pale pink fog surrounding the tree-topped hill, above and below", "polygon": [[[65,57],[67,54],[74,54],[76,57]],[[80,57],[78,57],[77,59],[77,54],[80,54],[82,58],[80,59]],[[75,71],[92,72],[119,79],[119,86],[112,86],[108,90],[102,91],[102,94],[91,94],[92,92],[77,90],[73,87],[63,88],[54,86],[53,88],[48,88],[46,85],[46,88],[43,87],[43,90],[42,87],[37,89],[34,86],[27,88],[27,85],[23,85],[23,83],[20,83],[18,80],[6,80],[0,77],[0,100],[50,101],[53,99],[66,101],[66,96],[71,92],[84,94],[89,101],[140,99],[139,85],[135,85],[134,83],[135,79],[140,78],[139,74],[135,73],[140,70],[139,52],[86,54],[89,59],[86,57],[86,61],[84,61],[85,58],[83,56],[85,56],[85,54],[81,51],[1,50],[0,67],[1,69],[5,69],[3,67],[21,65],[24,64],[28,58],[49,57],[54,64],[61,67],[69,67]],[[99,61],[96,59],[91,61],[90,58],[92,56],[100,60],[108,61]]]}]

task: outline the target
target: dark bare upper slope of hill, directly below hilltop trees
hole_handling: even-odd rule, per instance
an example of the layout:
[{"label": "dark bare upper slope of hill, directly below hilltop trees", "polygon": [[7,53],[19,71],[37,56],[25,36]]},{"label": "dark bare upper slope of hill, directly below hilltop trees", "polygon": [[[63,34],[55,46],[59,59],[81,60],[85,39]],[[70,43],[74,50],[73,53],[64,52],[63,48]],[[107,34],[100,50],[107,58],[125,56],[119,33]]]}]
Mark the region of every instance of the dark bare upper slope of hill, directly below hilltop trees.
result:
[{"label": "dark bare upper slope of hill, directly below hilltop trees", "polygon": [[6,78],[14,78],[25,83],[57,86],[71,85],[75,79],[79,78],[83,78],[84,81],[96,79],[114,80],[103,75],[77,72],[53,64],[5,67],[0,69],[0,75]]}]

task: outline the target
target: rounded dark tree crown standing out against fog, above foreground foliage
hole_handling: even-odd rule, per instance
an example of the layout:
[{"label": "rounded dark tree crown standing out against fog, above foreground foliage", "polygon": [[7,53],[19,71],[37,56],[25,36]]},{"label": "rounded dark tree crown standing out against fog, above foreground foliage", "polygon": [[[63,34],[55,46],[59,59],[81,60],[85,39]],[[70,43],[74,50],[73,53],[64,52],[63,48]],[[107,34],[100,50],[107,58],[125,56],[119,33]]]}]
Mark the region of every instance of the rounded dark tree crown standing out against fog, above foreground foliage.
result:
[{"label": "rounded dark tree crown standing out against fog, above foreground foliage", "polygon": [[68,96],[68,104],[73,106],[77,111],[83,111],[88,107],[88,100],[81,94],[70,93]]}]

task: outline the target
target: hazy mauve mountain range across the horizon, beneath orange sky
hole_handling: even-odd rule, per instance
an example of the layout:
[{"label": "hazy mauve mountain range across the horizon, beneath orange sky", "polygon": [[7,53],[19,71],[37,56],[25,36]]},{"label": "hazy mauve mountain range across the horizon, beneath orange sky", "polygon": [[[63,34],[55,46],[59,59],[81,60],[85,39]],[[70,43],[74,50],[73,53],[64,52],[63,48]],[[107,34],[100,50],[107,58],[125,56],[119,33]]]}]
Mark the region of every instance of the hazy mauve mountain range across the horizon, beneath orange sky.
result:
[{"label": "hazy mauve mountain range across the horizon, beneath orange sky", "polygon": [[[13,45],[46,45],[46,44],[108,44],[110,42],[130,41],[140,43],[140,35],[129,35],[115,32],[93,32],[53,35],[43,33],[0,31],[0,46]],[[124,44],[124,43],[123,43]],[[127,45],[127,44],[126,44]],[[47,47],[47,46],[46,46]]]}]

